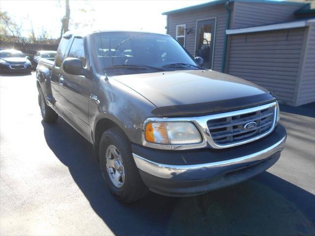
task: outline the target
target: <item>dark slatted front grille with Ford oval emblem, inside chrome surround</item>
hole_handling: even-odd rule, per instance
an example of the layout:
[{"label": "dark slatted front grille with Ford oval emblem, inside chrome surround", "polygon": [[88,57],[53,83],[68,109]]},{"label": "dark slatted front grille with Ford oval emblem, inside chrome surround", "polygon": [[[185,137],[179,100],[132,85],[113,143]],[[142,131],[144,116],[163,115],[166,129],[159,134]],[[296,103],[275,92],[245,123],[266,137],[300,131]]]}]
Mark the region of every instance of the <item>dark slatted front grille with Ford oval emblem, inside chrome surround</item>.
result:
[{"label": "dark slatted front grille with Ford oval emblem, inside chrome surround", "polygon": [[213,142],[216,145],[230,145],[246,141],[269,132],[274,125],[275,107],[207,122]]}]

